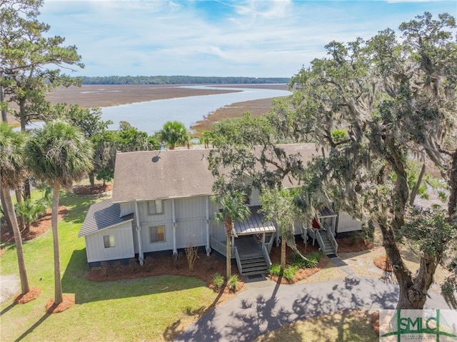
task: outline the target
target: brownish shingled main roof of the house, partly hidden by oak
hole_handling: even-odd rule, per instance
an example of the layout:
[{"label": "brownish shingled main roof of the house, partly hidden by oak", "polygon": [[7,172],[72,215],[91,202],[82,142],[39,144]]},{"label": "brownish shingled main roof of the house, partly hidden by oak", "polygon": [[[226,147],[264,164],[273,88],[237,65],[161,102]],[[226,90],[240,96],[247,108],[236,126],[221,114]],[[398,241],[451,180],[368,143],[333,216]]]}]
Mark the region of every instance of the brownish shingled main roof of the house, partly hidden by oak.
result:
[{"label": "brownish shingled main roof of the house, partly hidden by oak", "polygon": [[[316,155],[315,144],[281,145],[300,154],[304,164]],[[206,196],[213,193],[209,149],[138,151],[116,155],[113,202]],[[284,186],[294,186],[287,179]]]}]

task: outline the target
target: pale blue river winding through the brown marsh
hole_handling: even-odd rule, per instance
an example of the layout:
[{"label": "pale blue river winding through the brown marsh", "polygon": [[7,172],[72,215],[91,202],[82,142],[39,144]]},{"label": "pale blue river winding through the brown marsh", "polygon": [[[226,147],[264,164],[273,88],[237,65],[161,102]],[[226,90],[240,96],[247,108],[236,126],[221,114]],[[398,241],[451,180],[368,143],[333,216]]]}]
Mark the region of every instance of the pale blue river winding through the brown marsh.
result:
[{"label": "pale blue river winding through the brown marsh", "polygon": [[[193,88],[208,89],[208,86],[194,86]],[[269,99],[272,97],[288,96],[290,91],[277,89],[251,89],[251,88],[211,88],[241,90],[236,93],[212,94],[204,96],[189,96],[175,99],[139,102],[136,104],[123,104],[120,106],[102,108],[102,119],[114,122],[109,129],[117,129],[119,121],[129,123],[151,135],[159,131],[166,121],[180,121],[187,129],[196,121],[204,119],[224,106],[235,102]]]}]

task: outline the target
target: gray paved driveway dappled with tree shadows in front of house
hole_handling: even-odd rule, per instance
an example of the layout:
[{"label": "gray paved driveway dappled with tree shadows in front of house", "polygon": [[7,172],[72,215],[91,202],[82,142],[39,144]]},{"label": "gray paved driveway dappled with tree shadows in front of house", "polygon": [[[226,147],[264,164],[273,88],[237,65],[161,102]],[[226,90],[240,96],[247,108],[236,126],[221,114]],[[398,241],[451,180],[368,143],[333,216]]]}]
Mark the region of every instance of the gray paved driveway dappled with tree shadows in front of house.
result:
[{"label": "gray paved driveway dappled with tree shadows in front of house", "polygon": [[[338,259],[343,263],[340,269],[349,274],[346,278],[294,285],[278,285],[273,281],[248,283],[247,291],[206,313],[176,341],[252,341],[294,321],[336,311],[395,308],[396,283],[358,277]],[[338,260],[332,258],[332,263],[338,263]],[[427,308],[448,308],[438,293],[430,294]]]}]

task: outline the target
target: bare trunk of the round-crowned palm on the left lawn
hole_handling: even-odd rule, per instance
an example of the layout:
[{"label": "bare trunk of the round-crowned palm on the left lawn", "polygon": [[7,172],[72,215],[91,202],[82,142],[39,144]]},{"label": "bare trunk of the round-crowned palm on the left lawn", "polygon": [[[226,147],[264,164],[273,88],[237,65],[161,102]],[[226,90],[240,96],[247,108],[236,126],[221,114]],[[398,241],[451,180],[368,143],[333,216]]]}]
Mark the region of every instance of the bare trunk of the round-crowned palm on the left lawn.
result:
[{"label": "bare trunk of the round-crowned palm on the left lawn", "polygon": [[64,301],[62,295],[62,282],[60,278],[60,252],[59,252],[59,196],[60,184],[54,181],[52,184],[52,211],[51,211],[51,228],[52,228],[52,241],[54,243],[54,303],[60,304]]}]

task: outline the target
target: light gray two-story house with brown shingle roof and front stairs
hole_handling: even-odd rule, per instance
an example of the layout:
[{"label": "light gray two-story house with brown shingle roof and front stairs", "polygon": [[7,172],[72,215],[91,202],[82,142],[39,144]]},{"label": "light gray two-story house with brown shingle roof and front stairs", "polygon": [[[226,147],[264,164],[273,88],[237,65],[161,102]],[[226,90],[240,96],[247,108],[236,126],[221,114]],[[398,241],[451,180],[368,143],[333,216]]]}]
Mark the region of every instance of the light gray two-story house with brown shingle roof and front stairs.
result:
[{"label": "light gray two-story house with brown shingle roof and front stairs", "polygon": [[[314,144],[281,147],[288,154],[300,154],[304,163],[316,154]],[[205,248],[207,255],[214,251],[225,256],[226,233],[224,226],[214,220],[219,208],[211,201],[214,176],[208,169],[209,151],[117,154],[112,198],[89,208],[79,232],[86,241],[89,268],[100,266],[102,261],[113,263],[133,257],[143,263],[145,256],[171,255],[190,245]],[[285,182],[285,186],[294,186]],[[257,189],[253,189],[248,203],[251,217],[236,223],[231,237],[231,255],[242,275],[268,268],[269,252],[276,238],[275,226],[264,222],[258,211],[261,203]],[[297,233],[302,233],[303,238],[310,235],[325,250],[324,244],[329,246],[339,229],[361,227],[352,221],[350,226],[346,222],[340,228],[337,218],[337,213],[328,211],[328,215],[318,218],[321,226]],[[320,233],[324,230],[328,236]],[[331,253],[335,252],[334,246]]]}]

